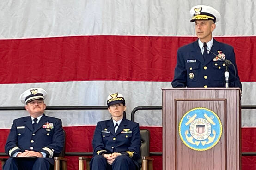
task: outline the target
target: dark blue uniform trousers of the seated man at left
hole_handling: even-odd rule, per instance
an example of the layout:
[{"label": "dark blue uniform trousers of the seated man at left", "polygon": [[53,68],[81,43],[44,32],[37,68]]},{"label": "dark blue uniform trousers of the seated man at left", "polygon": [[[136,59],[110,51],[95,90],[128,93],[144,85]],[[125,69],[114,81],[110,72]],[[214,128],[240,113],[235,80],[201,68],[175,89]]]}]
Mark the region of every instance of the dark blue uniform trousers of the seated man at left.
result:
[{"label": "dark blue uniform trousers of the seated man at left", "polygon": [[45,158],[9,158],[3,170],[50,170],[53,165]]}]

